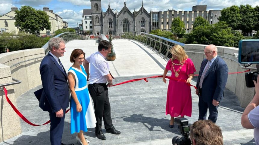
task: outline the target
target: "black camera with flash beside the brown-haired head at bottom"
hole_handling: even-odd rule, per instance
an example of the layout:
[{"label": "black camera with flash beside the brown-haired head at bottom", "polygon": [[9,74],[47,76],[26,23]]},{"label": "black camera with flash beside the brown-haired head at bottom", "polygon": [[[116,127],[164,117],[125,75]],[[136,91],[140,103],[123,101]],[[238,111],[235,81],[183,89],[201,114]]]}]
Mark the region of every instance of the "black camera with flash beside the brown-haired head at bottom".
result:
[{"label": "black camera with flash beside the brown-haired head at bottom", "polygon": [[188,125],[188,119],[186,118],[175,118],[174,122],[179,125],[178,128],[181,131],[182,137],[175,136],[172,139],[173,145],[191,145],[191,139],[189,137],[190,135],[190,126]]}]

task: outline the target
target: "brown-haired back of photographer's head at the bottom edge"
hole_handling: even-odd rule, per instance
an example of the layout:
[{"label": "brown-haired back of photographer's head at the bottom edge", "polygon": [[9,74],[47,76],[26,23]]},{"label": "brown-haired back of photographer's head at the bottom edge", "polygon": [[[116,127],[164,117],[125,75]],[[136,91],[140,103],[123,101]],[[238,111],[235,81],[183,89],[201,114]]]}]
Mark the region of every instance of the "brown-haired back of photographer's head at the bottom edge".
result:
[{"label": "brown-haired back of photographer's head at the bottom edge", "polygon": [[220,127],[210,120],[194,122],[190,137],[193,145],[223,145]]}]

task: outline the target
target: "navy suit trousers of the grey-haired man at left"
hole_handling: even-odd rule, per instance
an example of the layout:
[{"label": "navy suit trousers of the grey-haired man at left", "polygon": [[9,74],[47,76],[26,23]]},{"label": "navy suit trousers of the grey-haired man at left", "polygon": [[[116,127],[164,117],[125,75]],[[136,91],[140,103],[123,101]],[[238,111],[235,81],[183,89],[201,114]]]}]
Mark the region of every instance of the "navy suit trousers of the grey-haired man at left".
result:
[{"label": "navy suit trousers of the grey-haired man at left", "polygon": [[51,145],[61,145],[66,110],[63,113],[63,117],[56,117],[56,112],[49,113]]}]

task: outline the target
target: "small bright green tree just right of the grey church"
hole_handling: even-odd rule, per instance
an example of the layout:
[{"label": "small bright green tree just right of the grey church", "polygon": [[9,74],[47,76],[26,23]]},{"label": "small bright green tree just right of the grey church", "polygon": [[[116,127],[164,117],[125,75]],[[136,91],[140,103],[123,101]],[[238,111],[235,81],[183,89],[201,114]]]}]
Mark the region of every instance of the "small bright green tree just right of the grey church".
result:
[{"label": "small bright green tree just right of the grey church", "polygon": [[171,25],[171,32],[176,35],[183,35],[185,33],[184,30],[184,22],[180,20],[179,17],[176,17],[173,19],[172,21],[172,25]]}]

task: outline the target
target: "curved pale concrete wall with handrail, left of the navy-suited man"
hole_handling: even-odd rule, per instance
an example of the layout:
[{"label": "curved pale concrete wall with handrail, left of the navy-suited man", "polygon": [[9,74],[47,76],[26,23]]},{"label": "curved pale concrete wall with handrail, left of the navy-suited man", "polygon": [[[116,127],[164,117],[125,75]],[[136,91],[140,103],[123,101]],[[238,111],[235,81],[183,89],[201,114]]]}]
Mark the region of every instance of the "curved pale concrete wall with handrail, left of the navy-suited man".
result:
[{"label": "curved pale concrete wall with handrail, left of the navy-suited man", "polygon": [[[12,77],[22,83],[6,86],[8,97],[16,106],[16,98],[29,89],[41,84],[39,65],[42,58],[20,63],[10,68],[11,65],[28,59],[45,56],[44,49],[19,50],[0,54],[0,84],[11,83]],[[19,116],[13,111],[5,99],[5,94],[0,91],[1,97],[1,131],[0,142],[21,133]]]}]

